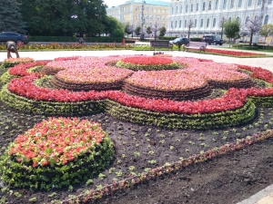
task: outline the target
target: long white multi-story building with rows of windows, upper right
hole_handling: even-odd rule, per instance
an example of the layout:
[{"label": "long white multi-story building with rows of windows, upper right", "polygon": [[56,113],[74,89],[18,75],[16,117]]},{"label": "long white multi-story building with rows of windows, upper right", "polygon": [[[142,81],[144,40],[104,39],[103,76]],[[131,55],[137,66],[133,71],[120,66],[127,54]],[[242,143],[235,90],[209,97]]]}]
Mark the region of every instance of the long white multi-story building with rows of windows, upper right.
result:
[{"label": "long white multi-story building with rows of windows, upper right", "polygon": [[[187,35],[188,22],[193,23],[191,36],[221,34],[219,21],[237,19],[241,32],[247,33],[246,22],[261,13],[262,0],[170,0],[167,33]],[[267,0],[262,24],[273,24],[273,0]]]}]

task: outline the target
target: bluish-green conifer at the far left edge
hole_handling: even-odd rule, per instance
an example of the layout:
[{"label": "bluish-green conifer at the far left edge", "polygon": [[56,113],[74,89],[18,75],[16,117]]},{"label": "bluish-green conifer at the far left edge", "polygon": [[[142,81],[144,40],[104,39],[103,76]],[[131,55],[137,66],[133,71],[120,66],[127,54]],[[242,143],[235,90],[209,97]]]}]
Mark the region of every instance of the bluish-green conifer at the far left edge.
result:
[{"label": "bluish-green conifer at the far left edge", "polygon": [[17,0],[0,1],[0,31],[25,34],[25,22]]}]

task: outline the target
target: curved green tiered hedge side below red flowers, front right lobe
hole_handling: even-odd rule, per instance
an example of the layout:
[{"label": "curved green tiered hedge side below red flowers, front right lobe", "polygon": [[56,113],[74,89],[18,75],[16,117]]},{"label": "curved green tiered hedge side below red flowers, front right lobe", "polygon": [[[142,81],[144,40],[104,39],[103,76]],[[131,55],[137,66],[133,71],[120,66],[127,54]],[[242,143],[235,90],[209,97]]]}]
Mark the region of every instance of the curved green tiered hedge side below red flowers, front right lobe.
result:
[{"label": "curved green tiered hedge side below red flowers, front right lobe", "polygon": [[178,129],[207,130],[247,123],[254,119],[255,108],[255,104],[248,101],[243,107],[235,111],[211,114],[167,114],[126,107],[117,102],[106,100],[106,112],[113,117],[140,124]]}]

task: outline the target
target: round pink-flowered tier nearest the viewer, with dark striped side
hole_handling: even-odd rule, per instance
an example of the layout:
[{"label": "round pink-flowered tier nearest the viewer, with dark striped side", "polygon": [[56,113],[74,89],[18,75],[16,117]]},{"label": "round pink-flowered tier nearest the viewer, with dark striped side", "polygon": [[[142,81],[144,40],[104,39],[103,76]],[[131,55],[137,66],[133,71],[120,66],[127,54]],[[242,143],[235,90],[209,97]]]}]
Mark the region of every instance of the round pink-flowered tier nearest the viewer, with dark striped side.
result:
[{"label": "round pink-flowered tier nearest the viewer, with dark striped side", "polygon": [[184,70],[136,72],[125,81],[125,92],[147,98],[182,101],[207,96],[205,79]]}]

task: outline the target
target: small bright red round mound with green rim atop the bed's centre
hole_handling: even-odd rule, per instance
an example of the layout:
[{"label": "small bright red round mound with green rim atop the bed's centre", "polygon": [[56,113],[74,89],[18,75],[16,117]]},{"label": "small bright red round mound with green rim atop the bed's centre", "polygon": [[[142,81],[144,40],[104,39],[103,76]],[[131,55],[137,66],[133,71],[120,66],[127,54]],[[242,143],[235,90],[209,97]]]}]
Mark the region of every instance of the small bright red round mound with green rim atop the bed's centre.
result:
[{"label": "small bright red round mound with green rim atop the bed's centre", "polygon": [[130,70],[174,70],[179,66],[170,58],[155,56],[126,57],[116,63],[117,67],[123,67]]}]

